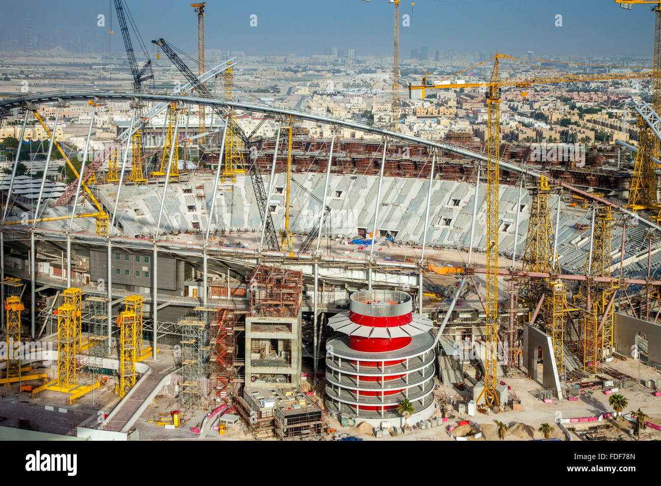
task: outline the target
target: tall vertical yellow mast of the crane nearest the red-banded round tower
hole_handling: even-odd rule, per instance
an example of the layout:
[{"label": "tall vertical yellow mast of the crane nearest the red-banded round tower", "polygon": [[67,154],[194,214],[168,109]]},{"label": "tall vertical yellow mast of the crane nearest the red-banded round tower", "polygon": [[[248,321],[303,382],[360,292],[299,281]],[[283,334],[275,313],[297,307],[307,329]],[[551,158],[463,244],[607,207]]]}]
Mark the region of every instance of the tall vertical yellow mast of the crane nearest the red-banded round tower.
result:
[{"label": "tall vertical yellow mast of the crane nearest the red-banded round tower", "polygon": [[486,139],[486,332],[485,389],[487,407],[500,407],[496,396],[498,385],[498,189],[500,185],[500,71],[496,57],[491,85],[486,96],[488,105]]}]

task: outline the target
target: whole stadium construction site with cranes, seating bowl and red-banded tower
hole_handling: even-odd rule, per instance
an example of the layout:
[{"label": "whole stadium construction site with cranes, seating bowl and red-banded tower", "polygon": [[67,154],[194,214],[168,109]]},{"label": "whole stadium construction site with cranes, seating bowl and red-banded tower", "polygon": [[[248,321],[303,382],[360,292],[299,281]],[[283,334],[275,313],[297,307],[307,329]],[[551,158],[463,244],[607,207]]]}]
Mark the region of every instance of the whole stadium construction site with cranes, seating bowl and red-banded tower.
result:
[{"label": "whole stadium construction site with cranes, seating bowl and red-banded tower", "polygon": [[[409,84],[482,90],[485,140],[428,140],[399,130],[390,3],[388,124],[237,101],[236,62],[205,61],[205,3],[186,7],[197,66],[151,41],[174,90],[147,89],[114,0],[132,91],[0,98],[22,127],[0,174],[0,440],[661,438],[661,4],[650,69],[516,79],[497,54],[481,83]],[[501,138],[509,88],[623,79],[650,83],[636,143],[547,164]],[[93,153],[117,101],[131,120]],[[56,136],[73,105],[81,165]],[[48,157],[27,177],[34,120]],[[48,179],[56,154],[73,182]]]}]

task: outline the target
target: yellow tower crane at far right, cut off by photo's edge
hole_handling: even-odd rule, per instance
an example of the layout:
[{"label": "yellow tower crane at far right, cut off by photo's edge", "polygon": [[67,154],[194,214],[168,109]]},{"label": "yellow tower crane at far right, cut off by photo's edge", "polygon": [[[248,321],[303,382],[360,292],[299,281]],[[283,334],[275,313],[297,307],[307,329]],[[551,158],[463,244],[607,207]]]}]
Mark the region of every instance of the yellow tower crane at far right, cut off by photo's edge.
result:
[{"label": "yellow tower crane at far right, cut off by photo's edge", "polygon": [[[654,111],[661,112],[661,2],[656,0],[615,0],[623,9],[631,10],[634,4],[650,4],[654,12],[654,65],[652,65],[652,103]],[[650,210],[651,218],[661,221],[661,205],[656,195],[656,164],[653,157],[658,159],[660,142],[652,129],[638,117],[639,151],[636,153],[631,186],[629,188],[629,200],[625,208],[631,211]]]}]

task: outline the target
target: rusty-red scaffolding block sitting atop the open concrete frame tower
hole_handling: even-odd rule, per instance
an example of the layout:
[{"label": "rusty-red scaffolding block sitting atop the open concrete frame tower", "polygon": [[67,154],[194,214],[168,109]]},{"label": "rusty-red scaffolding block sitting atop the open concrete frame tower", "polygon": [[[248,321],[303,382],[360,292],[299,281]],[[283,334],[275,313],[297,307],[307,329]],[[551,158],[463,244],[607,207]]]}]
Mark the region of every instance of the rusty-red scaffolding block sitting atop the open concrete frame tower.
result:
[{"label": "rusty-red scaffolding block sitting atop the open concrete frame tower", "polygon": [[250,279],[251,315],[298,317],[302,288],[303,272],[256,266]]}]

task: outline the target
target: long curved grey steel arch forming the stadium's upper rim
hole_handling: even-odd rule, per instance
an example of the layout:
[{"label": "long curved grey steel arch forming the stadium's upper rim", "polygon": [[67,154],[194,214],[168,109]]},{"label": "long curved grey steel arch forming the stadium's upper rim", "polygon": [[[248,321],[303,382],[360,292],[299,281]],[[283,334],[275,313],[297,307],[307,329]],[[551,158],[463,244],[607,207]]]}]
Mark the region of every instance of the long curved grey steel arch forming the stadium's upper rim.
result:
[{"label": "long curved grey steel arch forming the stadium's upper rim", "polygon": [[[188,104],[203,104],[205,106],[229,106],[233,108],[238,108],[239,110],[256,111],[256,112],[268,113],[268,114],[292,115],[295,116],[296,118],[300,118],[301,120],[309,120],[313,122],[320,122],[323,124],[340,126],[345,128],[353,128],[354,130],[360,130],[361,132],[365,132],[365,133],[377,134],[397,140],[405,140],[407,142],[417,143],[418,145],[424,145],[426,147],[430,147],[431,149],[442,149],[450,153],[463,155],[464,157],[468,157],[469,159],[486,161],[486,155],[473,150],[465,149],[463,147],[458,147],[457,145],[452,145],[451,143],[433,142],[432,140],[425,140],[424,138],[401,134],[399,132],[393,132],[391,130],[385,130],[383,128],[378,128],[375,126],[356,123],[350,120],[340,120],[338,118],[330,118],[328,116],[321,116],[303,111],[290,110],[288,108],[278,108],[276,106],[269,106],[266,104],[254,104],[254,103],[246,103],[241,101],[227,101],[227,100],[207,99],[207,98],[198,98],[198,97],[190,97],[190,96],[180,96],[180,95],[167,95],[165,93],[163,94],[116,93],[114,91],[79,91],[73,93],[69,91],[63,91],[59,93],[58,92],[40,93],[40,94],[34,94],[34,95],[0,101],[0,114],[2,114],[2,112],[7,112],[7,110],[11,110],[13,108],[19,108],[20,106],[30,103],[43,104],[43,103],[58,102],[58,101],[94,101],[97,99],[116,99],[116,100],[139,99],[143,101],[183,102]],[[510,163],[503,159],[500,159],[500,167],[503,167],[504,169],[508,169],[510,171],[515,171],[521,174],[529,175],[531,177],[538,178],[542,175],[541,172],[527,169],[525,167]],[[661,231],[661,226],[658,226],[650,222],[649,220],[646,220],[645,218],[641,218],[640,215],[635,214],[629,210],[626,210],[625,208],[619,206],[618,204],[614,204],[613,202],[609,202],[605,199],[594,196],[594,194],[590,194],[590,192],[581,190],[577,187],[567,184],[566,182],[558,181],[557,179],[552,179],[550,177],[549,180],[559,184],[560,186],[563,186],[570,192],[580,194],[581,196],[594,200],[595,202],[600,202],[601,204],[611,206],[612,208],[615,208],[625,214],[628,214],[629,216],[632,216],[637,221],[653,229],[656,229],[657,231]]]}]

